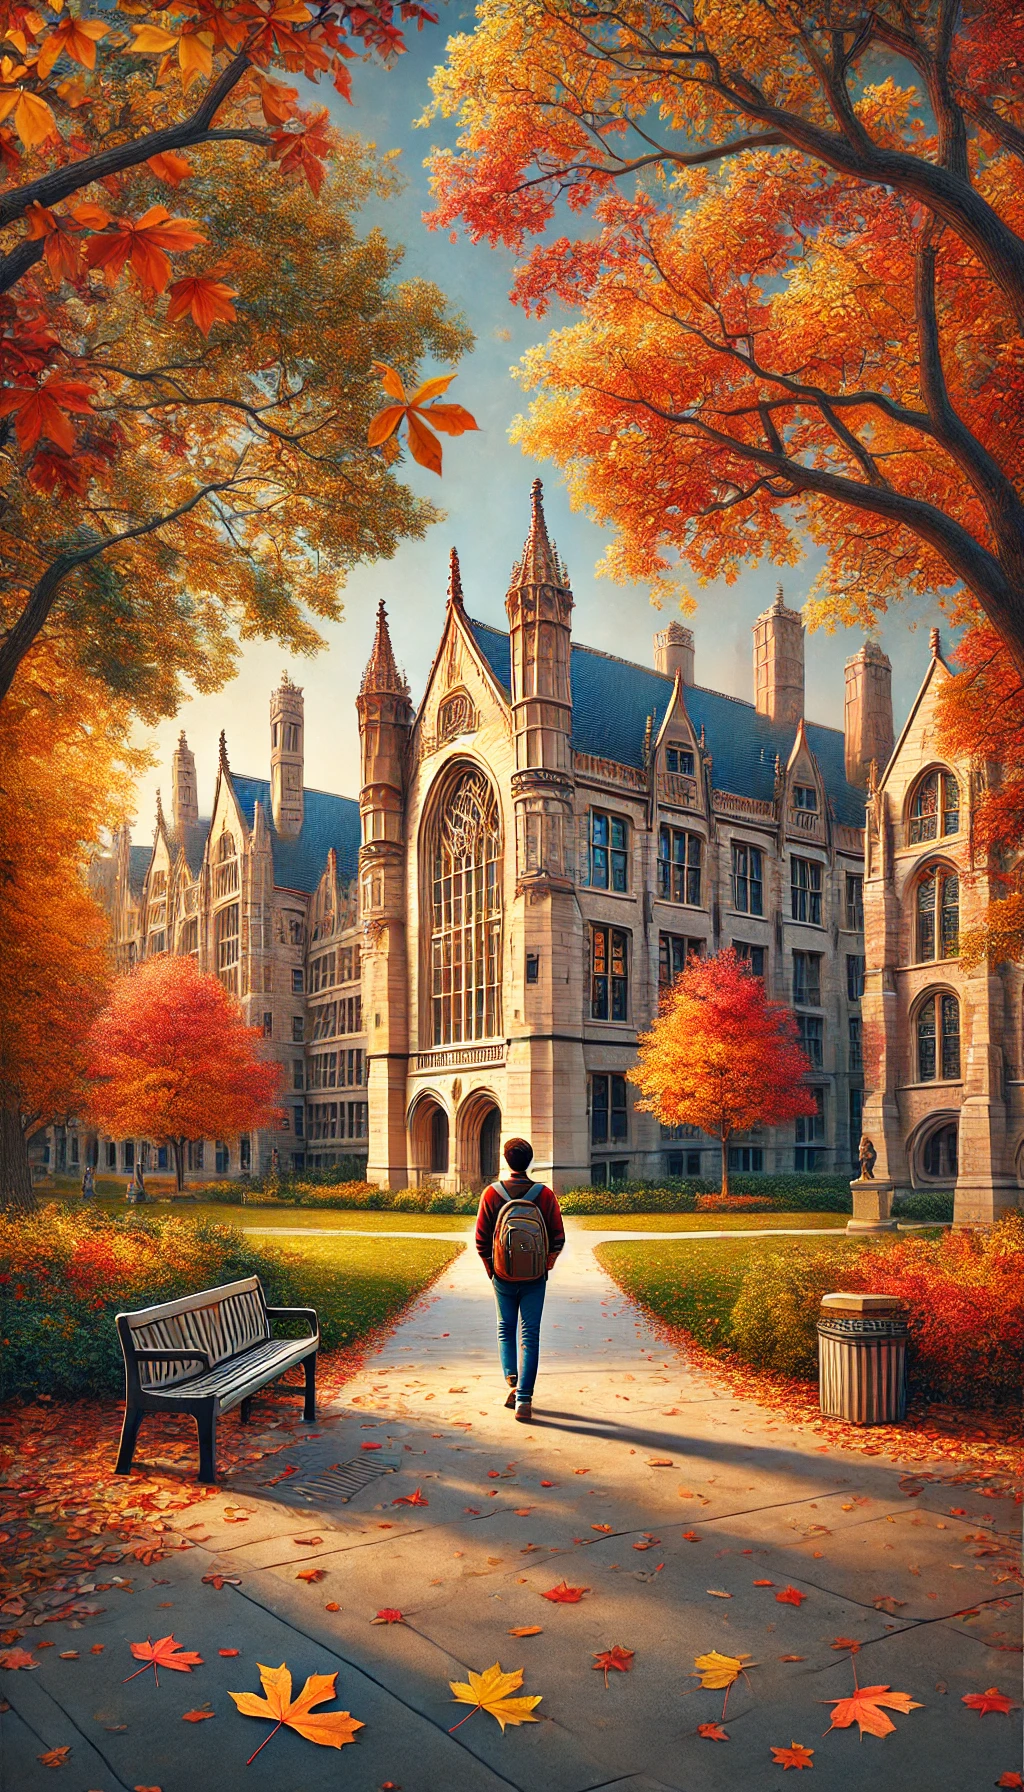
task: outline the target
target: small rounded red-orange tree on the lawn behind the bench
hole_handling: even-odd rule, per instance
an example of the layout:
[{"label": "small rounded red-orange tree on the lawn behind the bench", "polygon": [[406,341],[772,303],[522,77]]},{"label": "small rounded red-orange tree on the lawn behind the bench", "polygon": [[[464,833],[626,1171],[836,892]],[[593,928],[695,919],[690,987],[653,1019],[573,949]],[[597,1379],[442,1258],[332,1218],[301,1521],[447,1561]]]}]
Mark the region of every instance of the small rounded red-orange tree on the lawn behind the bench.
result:
[{"label": "small rounded red-orange tree on the lawn behind the bench", "polygon": [[188,1140],[273,1122],[282,1070],[260,1047],[194,959],[151,959],[117,980],[91,1030],[91,1118],[115,1138],[169,1143],[181,1188]]}]

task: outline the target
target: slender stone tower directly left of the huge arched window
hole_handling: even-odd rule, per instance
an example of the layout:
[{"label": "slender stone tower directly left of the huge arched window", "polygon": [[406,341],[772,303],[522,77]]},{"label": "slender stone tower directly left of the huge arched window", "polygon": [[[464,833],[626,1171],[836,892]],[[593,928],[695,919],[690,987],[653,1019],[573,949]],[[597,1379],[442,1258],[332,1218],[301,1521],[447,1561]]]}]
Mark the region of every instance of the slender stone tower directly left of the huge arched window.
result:
[{"label": "slender stone tower directly left of the huge arched window", "polygon": [[409,1057],[404,842],[412,704],[395,661],[384,604],[377,609],[377,634],[355,708],[362,754],[359,907],[369,1066],[368,1176],[386,1188],[404,1188]]}]

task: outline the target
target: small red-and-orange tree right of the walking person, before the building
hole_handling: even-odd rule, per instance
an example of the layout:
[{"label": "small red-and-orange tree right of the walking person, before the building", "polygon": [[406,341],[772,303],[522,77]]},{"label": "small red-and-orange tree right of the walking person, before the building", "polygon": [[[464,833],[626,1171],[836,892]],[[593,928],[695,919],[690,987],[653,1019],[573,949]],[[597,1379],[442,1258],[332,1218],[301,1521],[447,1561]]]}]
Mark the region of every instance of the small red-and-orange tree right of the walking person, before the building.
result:
[{"label": "small red-and-orange tree right of the walking person, before the building", "polygon": [[728,1195],[730,1136],[816,1113],[803,1084],[809,1070],[791,1009],[768,1000],[762,978],[730,946],[712,959],[689,957],[640,1034],[629,1082],[642,1091],[637,1106],[662,1125],[696,1125],[721,1140]]}]

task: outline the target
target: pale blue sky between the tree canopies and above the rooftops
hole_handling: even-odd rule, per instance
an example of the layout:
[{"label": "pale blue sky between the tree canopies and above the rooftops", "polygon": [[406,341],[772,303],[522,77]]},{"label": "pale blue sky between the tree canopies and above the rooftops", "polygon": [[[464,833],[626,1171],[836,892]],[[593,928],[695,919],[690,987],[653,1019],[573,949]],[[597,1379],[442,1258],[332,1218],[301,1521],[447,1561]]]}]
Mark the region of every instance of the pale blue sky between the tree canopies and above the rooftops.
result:
[{"label": "pale blue sky between the tree canopies and above the rooftops", "polygon": [[[504,627],[504,593],[513,559],[522,548],[529,521],[529,486],[536,473],[545,484],[549,527],[568,563],[576,595],[574,633],[581,642],[628,659],[651,663],[651,636],[671,616],[655,611],[644,586],[620,588],[595,579],[606,536],[586,516],[572,514],[556,468],[529,461],[508,441],[508,426],[522,409],[522,392],[511,366],[531,342],[558,324],[558,314],[536,323],[508,301],[513,258],[504,251],[452,244],[430,233],[421,220],[430,202],[423,158],[434,143],[454,138],[448,125],[414,129],[429,100],[429,77],[443,59],[445,39],[472,29],[470,5],[441,5],[439,27],[409,34],[409,54],[393,70],[353,65],[353,106],[332,97],[332,111],[344,131],[359,133],[380,149],[400,149],[405,192],[368,208],[368,222],[380,224],[405,246],[407,276],[434,280],[464,312],[477,346],[464,357],[450,396],[466,405],[479,435],[445,439],[441,480],[405,464],[409,484],[447,511],[423,541],[398,548],[393,561],[353,573],[344,593],[344,620],[326,627],[328,645],[316,659],[287,659],[280,647],[249,643],[240,672],[222,692],[187,702],[178,717],[140,738],[156,747],[160,763],[138,790],[136,839],[152,826],[156,787],[170,790],[169,756],[181,728],[199,762],[199,801],[210,806],[217,769],[217,737],[224,728],[231,765],[265,776],[269,758],[269,694],[287,665],[305,688],[307,769],[305,781],[321,790],[359,794],[359,735],[355,692],[369,654],[373,618],[384,599],[400,663],[418,701],[445,615],[448,548],[459,548],[463,586],[470,615]],[[328,95],[325,95],[326,99]],[[807,557],[782,573],[762,564],[735,586],[714,584],[698,597],[698,613],[685,618],[696,636],[696,677],[701,685],[751,699],[751,622],[773,595],[778,577],[785,599],[800,606],[814,581],[818,563]],[[881,629],[881,642],[893,661],[897,733],[927,665],[927,627],[942,622],[938,607],[916,604],[897,609]],[[943,631],[947,633],[947,631]],[[807,717],[843,726],[843,661],[861,636],[839,631],[807,638]]]}]

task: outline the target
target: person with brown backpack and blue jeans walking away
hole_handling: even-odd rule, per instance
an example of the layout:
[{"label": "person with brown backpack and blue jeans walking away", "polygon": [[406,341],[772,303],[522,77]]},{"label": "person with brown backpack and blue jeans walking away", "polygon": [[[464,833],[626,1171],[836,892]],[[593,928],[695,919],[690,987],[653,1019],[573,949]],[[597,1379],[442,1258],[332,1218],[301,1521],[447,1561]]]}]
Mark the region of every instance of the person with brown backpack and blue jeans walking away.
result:
[{"label": "person with brown backpack and blue jeans walking away", "polygon": [[499,1308],[499,1360],[509,1389],[506,1407],[515,1407],[516,1419],[529,1425],[543,1290],[565,1245],[565,1226],[554,1192],[525,1174],[533,1161],[529,1140],[509,1138],[504,1158],[511,1176],[490,1183],[481,1195],[477,1251]]}]

